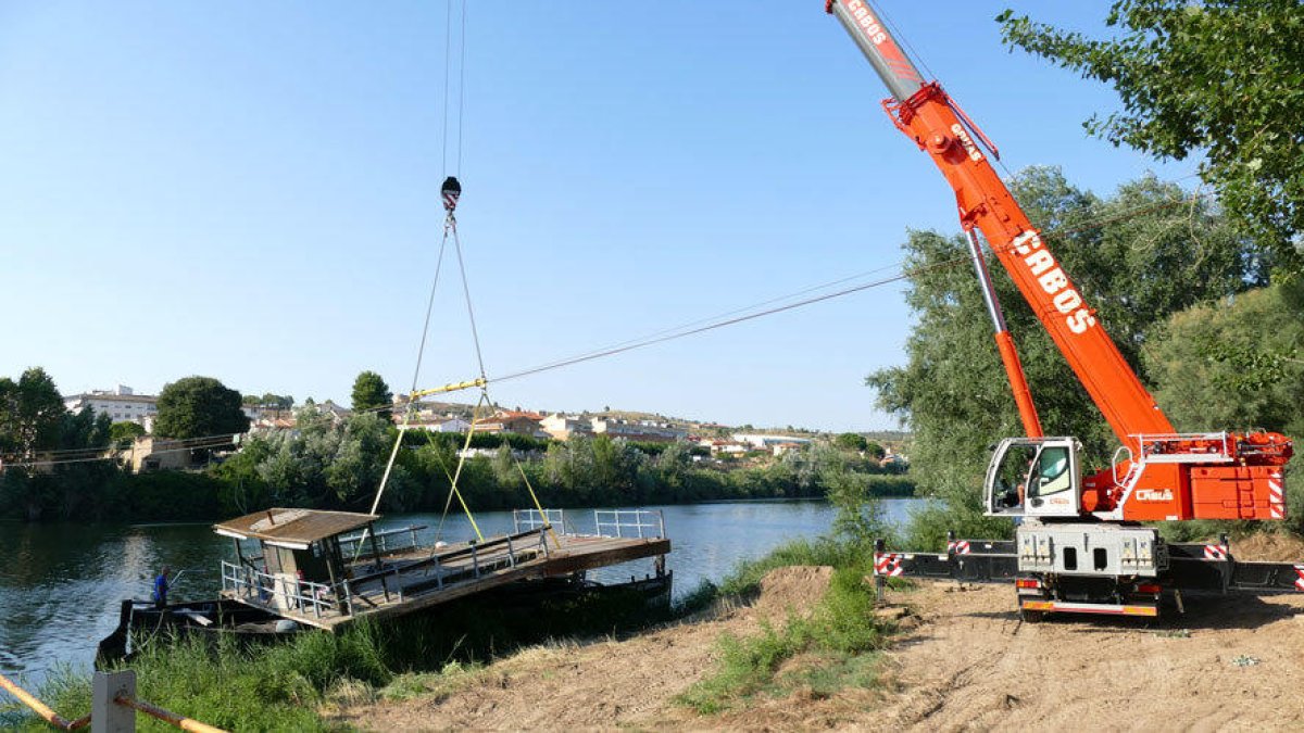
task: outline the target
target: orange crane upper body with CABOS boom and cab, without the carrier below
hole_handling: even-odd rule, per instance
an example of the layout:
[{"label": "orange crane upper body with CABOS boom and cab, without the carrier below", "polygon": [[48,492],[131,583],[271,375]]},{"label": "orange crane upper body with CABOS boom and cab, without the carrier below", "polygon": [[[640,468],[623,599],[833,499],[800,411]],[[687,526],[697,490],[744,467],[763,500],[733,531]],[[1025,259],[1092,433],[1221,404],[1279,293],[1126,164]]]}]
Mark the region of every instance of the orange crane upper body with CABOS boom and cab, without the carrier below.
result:
[{"label": "orange crane upper body with CABOS boom and cab, without the carrier below", "polygon": [[[996,155],[995,146],[936,81],[925,81],[867,1],[827,0],[825,10],[842,22],[887,85],[892,97],[883,106],[893,124],[928,154],[955,190],[960,223],[970,237],[1028,437],[1041,438],[1041,426],[995,293],[983,280],[974,230],[987,239],[1123,446],[1112,470],[1086,476],[1073,486],[1072,505],[1064,502],[1069,497],[1034,497],[1039,505],[1024,507],[1022,513],[1064,518],[1094,514],[1098,519],[1284,518],[1282,467],[1291,455],[1291,441],[1266,432],[1175,433],[1097,320],[1095,309],[996,175],[987,159],[987,153]],[[1050,441],[1042,438],[1037,445],[1045,447]],[[1076,458],[1073,446],[1067,445],[1072,438],[1060,441]],[[1001,447],[1018,445],[1024,443]],[[988,484],[996,479],[998,463],[994,459]],[[988,485],[988,493],[996,490],[999,486]],[[1022,503],[1022,497],[1015,498]],[[1007,509],[988,506],[992,514],[1005,514]]]}]

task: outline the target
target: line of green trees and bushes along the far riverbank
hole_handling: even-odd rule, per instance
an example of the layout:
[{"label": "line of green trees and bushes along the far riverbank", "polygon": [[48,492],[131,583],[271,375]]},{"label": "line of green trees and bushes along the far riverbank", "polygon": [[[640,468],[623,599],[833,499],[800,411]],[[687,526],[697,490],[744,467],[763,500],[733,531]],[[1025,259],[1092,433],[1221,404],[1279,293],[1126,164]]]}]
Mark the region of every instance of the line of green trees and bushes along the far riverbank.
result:
[{"label": "line of green trees and bushes along the far riverbank", "polygon": [[[0,518],[219,519],[300,506],[365,511],[379,486],[399,430],[382,407],[389,387],[370,372],[355,385],[355,412],[338,419],[310,400],[293,430],[244,436],[239,451],[194,471],[132,475],[106,451],[138,434],[90,408],[64,408],[53,380],[29,369],[0,380]],[[284,396],[262,395],[276,406]],[[209,377],[186,377],[159,395],[156,433],[173,438],[232,434],[248,428],[241,395]],[[252,402],[252,400],[250,400]],[[128,429],[132,428],[132,429]],[[442,510],[464,434],[403,433],[385,511]],[[546,506],[625,506],[729,498],[819,498],[832,485],[878,496],[910,496],[906,476],[879,468],[883,449],[854,434],[762,463],[730,467],[683,442],[642,443],[608,436],[566,442],[520,434],[472,434],[481,449],[464,460],[458,488],[475,510],[531,506],[527,481]],[[77,453],[69,453],[77,451]],[[224,451],[223,451],[224,453]],[[486,454],[488,453],[488,454]]]}]

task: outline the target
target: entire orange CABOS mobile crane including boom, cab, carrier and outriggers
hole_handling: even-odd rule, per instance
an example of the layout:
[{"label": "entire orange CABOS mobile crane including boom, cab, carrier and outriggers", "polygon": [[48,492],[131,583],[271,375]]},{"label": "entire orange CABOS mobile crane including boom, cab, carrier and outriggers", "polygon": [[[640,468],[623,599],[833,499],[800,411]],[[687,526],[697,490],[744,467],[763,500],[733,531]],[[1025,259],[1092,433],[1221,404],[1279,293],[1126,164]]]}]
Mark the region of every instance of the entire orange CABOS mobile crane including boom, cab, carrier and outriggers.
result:
[{"label": "entire orange CABOS mobile crane including boom, cab, carrier and outriggers", "polygon": [[[1166,543],[1146,520],[1284,519],[1279,433],[1176,433],[996,175],[995,146],[936,81],[925,81],[866,0],[825,0],[892,97],[893,124],[956,194],[996,347],[1026,437],[1000,441],[985,480],[988,515],[1013,541],[956,540],[947,554],[875,553],[875,574],[1009,580],[1028,618],[1046,612],[1157,616],[1166,591],[1304,591],[1304,565],[1241,563],[1217,544]],[[986,151],[985,151],[986,150]],[[1082,476],[1073,437],[1047,437],[1005,327],[977,232],[986,237],[1119,440],[1111,468]]]}]

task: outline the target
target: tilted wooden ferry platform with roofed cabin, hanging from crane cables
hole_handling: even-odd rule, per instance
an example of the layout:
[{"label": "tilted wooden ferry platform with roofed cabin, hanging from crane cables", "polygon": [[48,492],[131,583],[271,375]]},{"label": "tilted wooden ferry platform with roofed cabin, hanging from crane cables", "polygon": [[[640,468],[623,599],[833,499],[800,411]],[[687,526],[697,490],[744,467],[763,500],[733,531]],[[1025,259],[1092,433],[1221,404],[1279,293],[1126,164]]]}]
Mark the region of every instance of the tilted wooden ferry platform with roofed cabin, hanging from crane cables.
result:
[{"label": "tilted wooden ferry platform with roofed cabin, hanging from crane cables", "polygon": [[[660,511],[596,510],[593,533],[561,510],[519,510],[514,532],[422,546],[407,527],[374,531],[373,514],[273,509],[214,526],[236,545],[222,596],[318,629],[393,618],[519,580],[558,578],[642,558],[664,576],[670,540]],[[359,532],[359,530],[363,530]],[[257,540],[259,554],[246,550]]]}]

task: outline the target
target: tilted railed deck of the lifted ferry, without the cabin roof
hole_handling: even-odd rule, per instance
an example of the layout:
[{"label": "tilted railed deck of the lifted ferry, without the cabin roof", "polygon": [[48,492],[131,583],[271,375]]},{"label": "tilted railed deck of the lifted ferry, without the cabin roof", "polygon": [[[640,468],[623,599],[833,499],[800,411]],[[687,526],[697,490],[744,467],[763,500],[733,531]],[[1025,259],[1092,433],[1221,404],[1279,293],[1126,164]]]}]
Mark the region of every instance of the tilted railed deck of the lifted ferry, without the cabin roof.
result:
[{"label": "tilted railed deck of the lifted ferry, without the cabin roof", "polygon": [[548,515],[556,518],[552,528],[537,511],[520,511],[516,528],[524,526],[523,531],[462,545],[416,546],[415,531],[407,546],[376,541],[408,530],[342,539],[342,544],[357,548],[369,540],[373,552],[351,562],[349,576],[336,583],[296,580],[223,562],[222,595],[299,623],[335,630],[359,618],[404,616],[518,580],[570,575],[670,552],[656,513],[599,510],[600,533],[593,535],[566,532],[559,511]]}]

